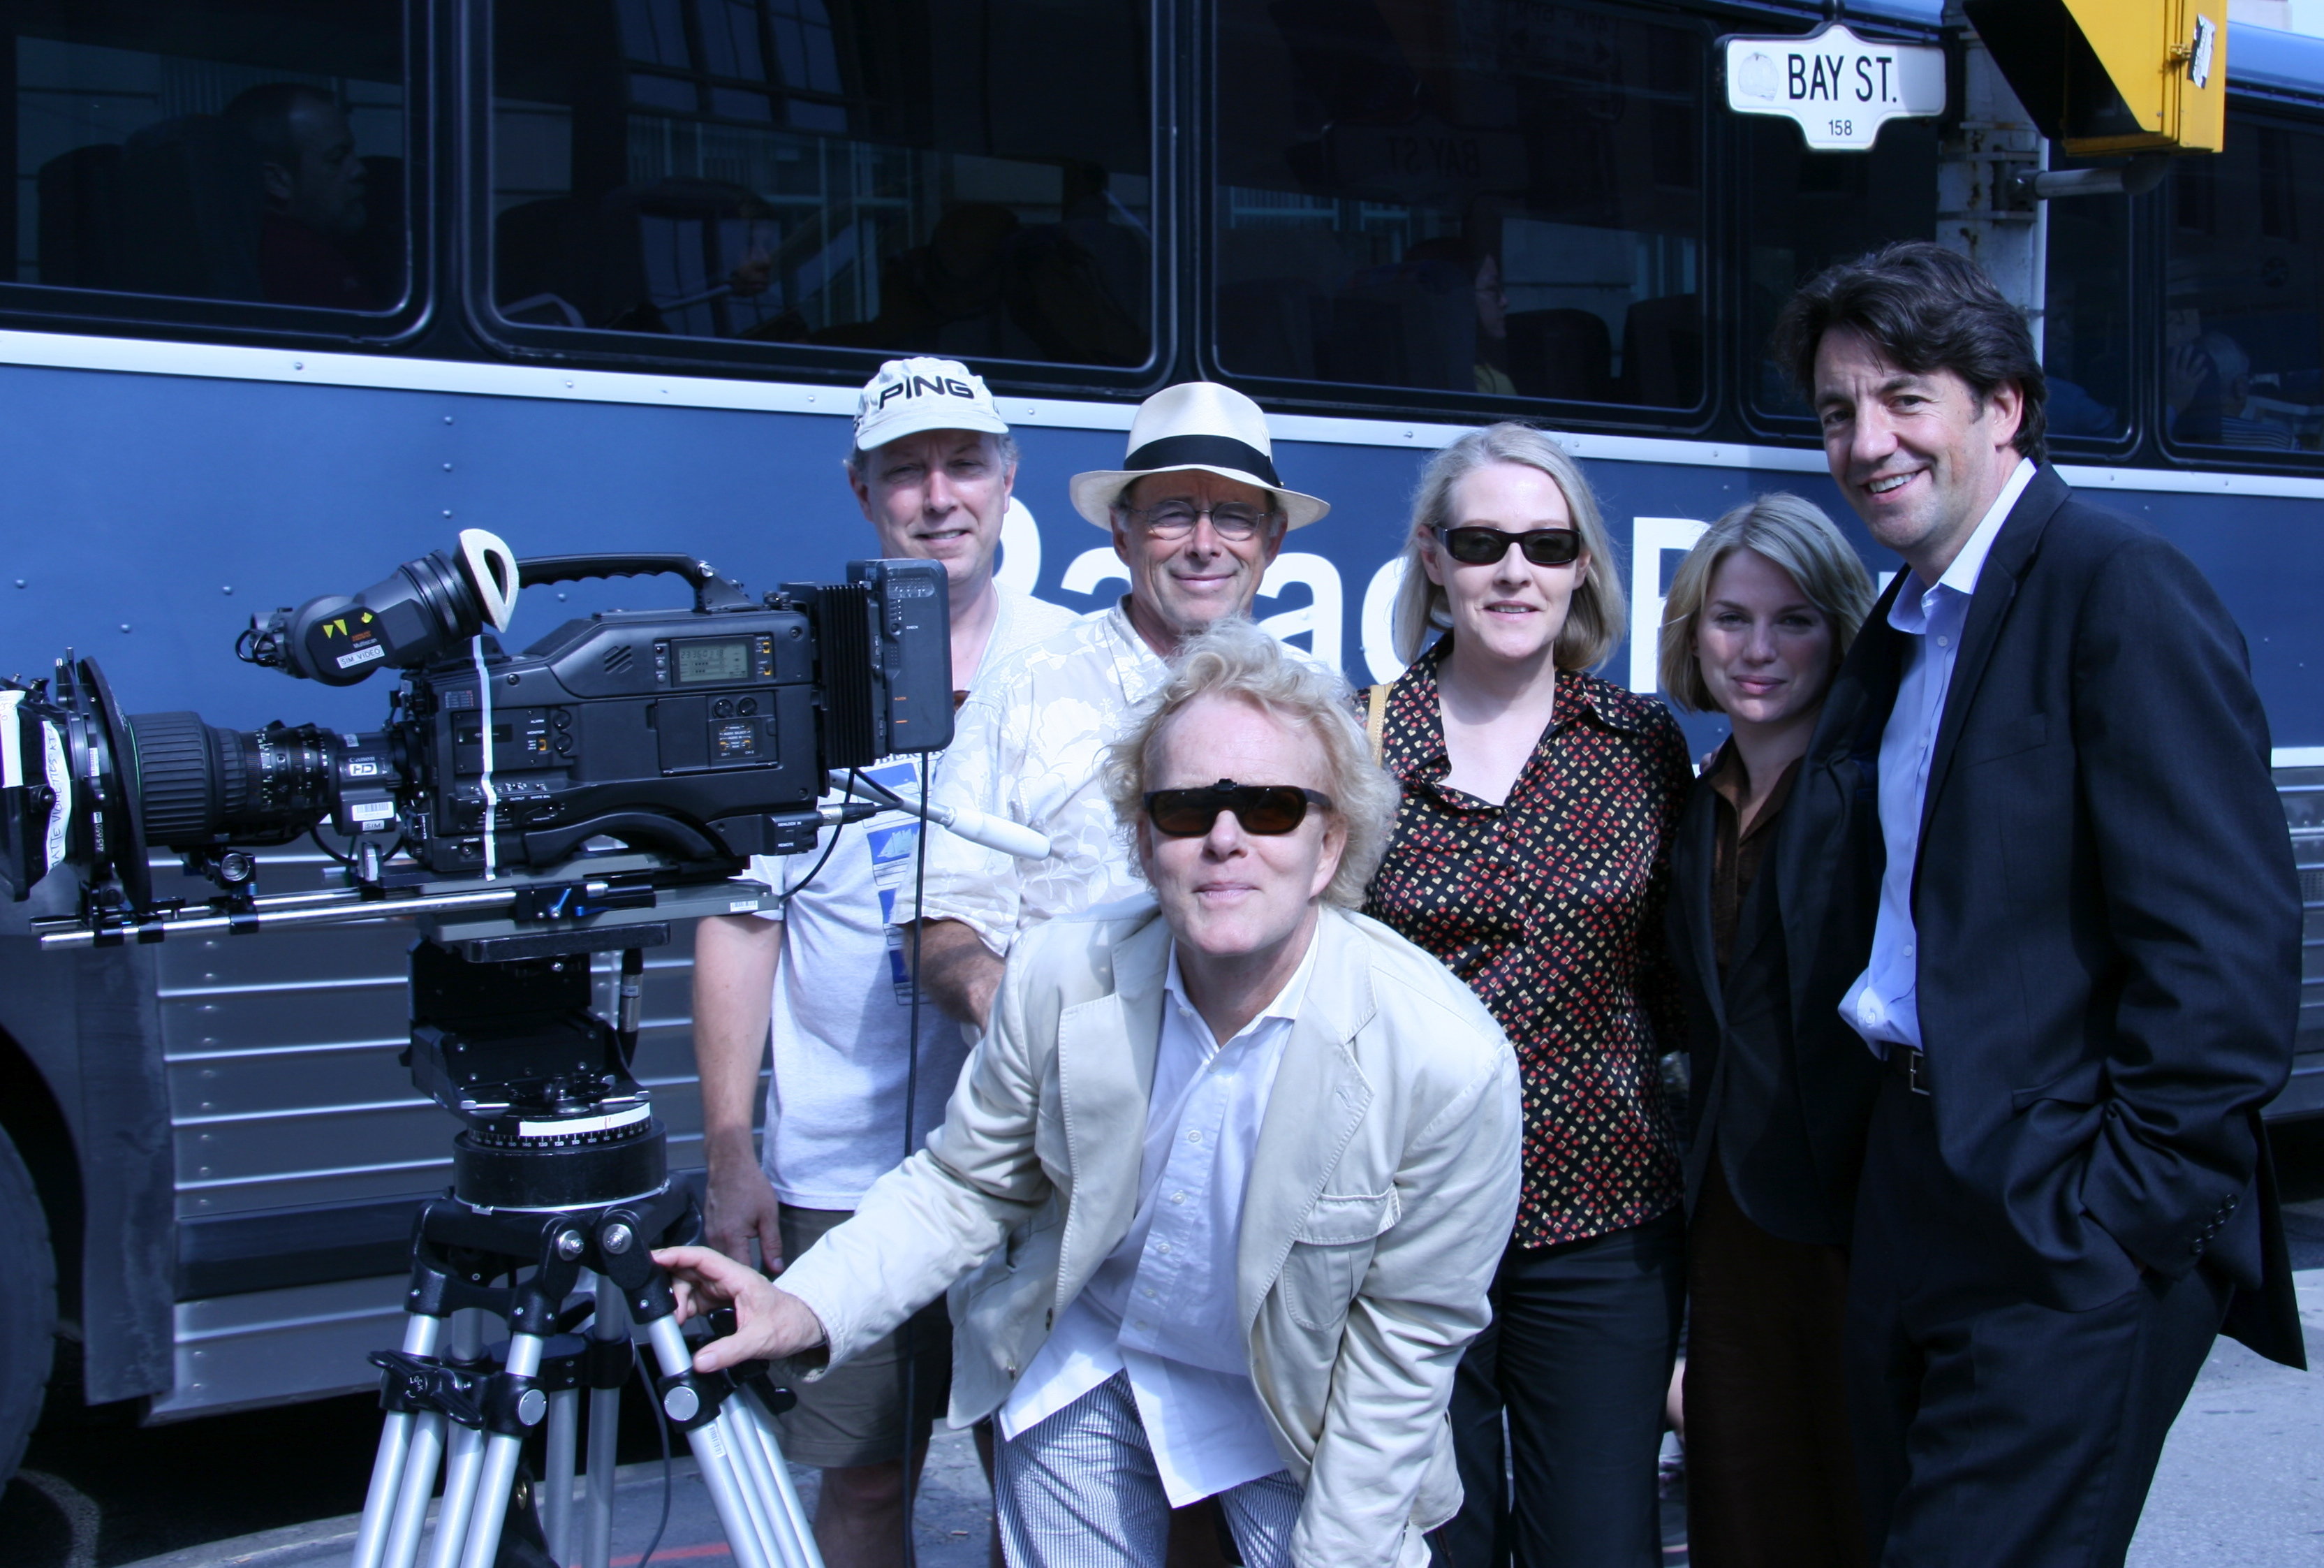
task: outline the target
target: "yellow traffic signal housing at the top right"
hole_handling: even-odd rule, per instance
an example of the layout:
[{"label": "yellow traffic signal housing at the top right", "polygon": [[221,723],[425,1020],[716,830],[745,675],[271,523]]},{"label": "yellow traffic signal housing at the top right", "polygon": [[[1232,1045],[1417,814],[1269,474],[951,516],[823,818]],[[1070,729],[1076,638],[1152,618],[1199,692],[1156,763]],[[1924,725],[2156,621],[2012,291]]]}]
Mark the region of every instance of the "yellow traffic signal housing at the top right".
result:
[{"label": "yellow traffic signal housing at the top right", "polygon": [[2226,0],[1964,0],[2045,137],[2075,156],[2226,142]]}]

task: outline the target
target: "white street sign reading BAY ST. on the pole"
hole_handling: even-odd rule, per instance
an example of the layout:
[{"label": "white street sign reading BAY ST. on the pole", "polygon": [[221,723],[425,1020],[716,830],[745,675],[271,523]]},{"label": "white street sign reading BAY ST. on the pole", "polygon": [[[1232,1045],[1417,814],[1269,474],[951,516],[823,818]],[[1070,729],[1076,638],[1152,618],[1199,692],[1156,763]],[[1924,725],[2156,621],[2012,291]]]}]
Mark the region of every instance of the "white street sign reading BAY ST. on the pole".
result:
[{"label": "white street sign reading BAY ST. on the pole", "polygon": [[1780,114],[1817,151],[1868,153],[1889,121],[1945,112],[1945,51],[1827,23],[1806,37],[1727,37],[1727,107]]}]

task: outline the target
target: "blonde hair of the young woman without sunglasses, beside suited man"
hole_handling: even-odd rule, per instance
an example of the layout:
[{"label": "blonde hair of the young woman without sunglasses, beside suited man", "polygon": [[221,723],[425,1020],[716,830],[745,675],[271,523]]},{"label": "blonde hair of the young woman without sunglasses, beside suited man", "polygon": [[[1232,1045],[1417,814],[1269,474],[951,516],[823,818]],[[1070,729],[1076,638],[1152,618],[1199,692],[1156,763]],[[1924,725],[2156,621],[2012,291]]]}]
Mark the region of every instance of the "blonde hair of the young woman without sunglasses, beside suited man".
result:
[{"label": "blonde hair of the young woman without sunglasses, beside suited man", "polygon": [[1662,690],[1690,713],[1720,711],[1703,681],[1701,660],[1694,657],[1694,620],[1710,597],[1710,578],[1717,576],[1720,562],[1736,551],[1752,551],[1792,574],[1808,604],[1831,623],[1834,669],[1841,667],[1848,643],[1857,641],[1857,630],[1873,609],[1873,578],[1822,506],[1785,490],[1743,502],[1694,541],[1678,562],[1678,576],[1671,578],[1671,597],[1662,604]]}]

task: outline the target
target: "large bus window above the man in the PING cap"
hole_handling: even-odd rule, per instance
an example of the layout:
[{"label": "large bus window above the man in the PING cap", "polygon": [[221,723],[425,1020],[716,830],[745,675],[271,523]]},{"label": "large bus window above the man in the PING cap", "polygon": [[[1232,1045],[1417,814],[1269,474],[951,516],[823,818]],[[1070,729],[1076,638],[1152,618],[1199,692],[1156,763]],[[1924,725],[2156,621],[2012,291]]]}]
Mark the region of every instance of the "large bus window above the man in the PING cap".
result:
[{"label": "large bus window above the man in the PING cap", "polygon": [[1139,0],[502,0],[500,318],[1143,365]]}]

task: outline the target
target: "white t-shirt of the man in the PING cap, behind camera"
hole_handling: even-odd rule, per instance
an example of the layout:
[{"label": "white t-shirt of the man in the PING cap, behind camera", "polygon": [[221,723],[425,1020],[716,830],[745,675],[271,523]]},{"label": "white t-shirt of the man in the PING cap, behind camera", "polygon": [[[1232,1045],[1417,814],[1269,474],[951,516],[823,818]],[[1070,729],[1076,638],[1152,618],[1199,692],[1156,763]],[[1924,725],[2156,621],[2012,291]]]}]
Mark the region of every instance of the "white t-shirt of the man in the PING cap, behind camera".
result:
[{"label": "white t-shirt of the man in the PING cap, behind camera", "polygon": [[[1043,599],[1006,588],[995,592],[999,618],[976,667],[978,678],[1074,620],[1071,611]],[[920,757],[888,757],[865,771],[904,799],[918,799],[918,767]],[[765,915],[783,920],[783,952],[774,971],[774,1073],[767,1080],[760,1164],[774,1194],[795,1208],[855,1208],[865,1189],[944,1120],[944,1103],[967,1059],[960,1027],[923,999],[906,1145],[911,978],[904,934],[890,915],[899,892],[906,901],[911,897],[918,832],[911,818],[883,813],[823,829],[813,853],[751,862],[753,878],[788,892],[806,883],[823,850],[832,850],[813,885],[781,915]],[[948,836],[939,834],[930,848]]]}]

